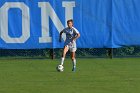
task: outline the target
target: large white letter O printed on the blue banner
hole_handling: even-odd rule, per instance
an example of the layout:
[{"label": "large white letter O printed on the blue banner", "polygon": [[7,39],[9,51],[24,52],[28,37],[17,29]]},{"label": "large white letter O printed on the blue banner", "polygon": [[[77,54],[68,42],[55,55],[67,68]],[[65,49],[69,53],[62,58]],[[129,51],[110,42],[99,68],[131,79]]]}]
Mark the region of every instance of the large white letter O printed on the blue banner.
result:
[{"label": "large white letter O printed on the blue banner", "polygon": [[[22,11],[22,35],[18,38],[12,38],[8,35],[8,10],[10,8],[19,8]],[[0,37],[6,43],[25,43],[30,38],[30,14],[28,6],[22,2],[6,2],[0,8],[0,31]]]}]

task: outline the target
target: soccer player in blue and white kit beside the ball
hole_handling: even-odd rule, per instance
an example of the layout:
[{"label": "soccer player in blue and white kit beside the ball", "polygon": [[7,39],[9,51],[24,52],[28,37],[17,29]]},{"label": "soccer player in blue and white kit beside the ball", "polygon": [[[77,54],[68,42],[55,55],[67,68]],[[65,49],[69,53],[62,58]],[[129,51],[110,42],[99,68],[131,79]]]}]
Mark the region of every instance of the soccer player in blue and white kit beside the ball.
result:
[{"label": "soccer player in blue and white kit beside the ball", "polygon": [[59,42],[61,42],[62,33],[66,34],[66,40],[65,40],[65,43],[64,43],[64,49],[63,49],[60,65],[64,64],[64,59],[65,59],[66,53],[68,52],[68,50],[70,50],[71,59],[72,59],[72,63],[73,63],[72,71],[75,72],[76,71],[75,52],[76,52],[76,49],[77,49],[76,48],[76,40],[80,37],[80,33],[76,28],[73,27],[73,20],[72,19],[67,21],[67,25],[68,25],[68,27],[66,27],[65,29],[63,29],[60,32],[60,37],[59,37]]}]

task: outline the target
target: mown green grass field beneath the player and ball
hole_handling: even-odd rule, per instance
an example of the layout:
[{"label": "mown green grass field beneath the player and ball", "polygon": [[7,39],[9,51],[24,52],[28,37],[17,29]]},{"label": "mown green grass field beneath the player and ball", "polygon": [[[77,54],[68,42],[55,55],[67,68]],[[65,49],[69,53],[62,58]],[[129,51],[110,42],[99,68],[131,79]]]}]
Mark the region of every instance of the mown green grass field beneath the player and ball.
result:
[{"label": "mown green grass field beneath the player and ball", "polygon": [[0,59],[0,93],[140,93],[140,58]]}]

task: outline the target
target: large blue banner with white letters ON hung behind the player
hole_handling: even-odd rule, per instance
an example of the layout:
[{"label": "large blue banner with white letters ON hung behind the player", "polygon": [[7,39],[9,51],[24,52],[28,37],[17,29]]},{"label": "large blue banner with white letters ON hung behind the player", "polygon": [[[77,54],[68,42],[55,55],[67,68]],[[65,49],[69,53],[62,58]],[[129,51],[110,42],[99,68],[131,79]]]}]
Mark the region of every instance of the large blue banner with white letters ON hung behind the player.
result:
[{"label": "large blue banner with white letters ON hung behind the player", "polygon": [[[140,45],[140,0],[0,0],[0,48],[62,48],[74,20],[78,48]],[[63,35],[65,40],[65,35]]]}]

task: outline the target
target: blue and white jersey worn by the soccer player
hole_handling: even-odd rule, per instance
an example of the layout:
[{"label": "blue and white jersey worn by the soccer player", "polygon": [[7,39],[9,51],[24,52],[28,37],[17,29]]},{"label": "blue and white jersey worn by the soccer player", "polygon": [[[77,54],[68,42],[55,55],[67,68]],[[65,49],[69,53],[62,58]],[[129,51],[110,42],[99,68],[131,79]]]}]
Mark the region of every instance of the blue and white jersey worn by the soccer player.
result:
[{"label": "blue and white jersey worn by the soccer player", "polygon": [[75,43],[75,41],[72,41],[72,40],[79,33],[79,31],[76,28],[74,28],[74,27],[72,27],[72,28],[67,27],[67,28],[63,29],[62,31],[63,31],[63,33],[66,34],[65,46],[70,44],[70,43]]}]

